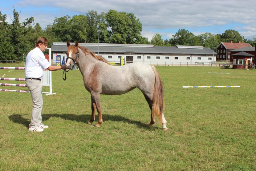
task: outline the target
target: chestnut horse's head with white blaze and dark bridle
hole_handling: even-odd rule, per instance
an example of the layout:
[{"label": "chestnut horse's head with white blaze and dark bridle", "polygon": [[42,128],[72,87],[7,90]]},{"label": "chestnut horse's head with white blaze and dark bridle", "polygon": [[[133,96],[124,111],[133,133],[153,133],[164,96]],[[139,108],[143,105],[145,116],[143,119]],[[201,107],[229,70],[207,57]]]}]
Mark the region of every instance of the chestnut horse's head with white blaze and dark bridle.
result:
[{"label": "chestnut horse's head with white blaze and dark bridle", "polygon": [[75,63],[78,61],[79,51],[78,51],[78,42],[75,41],[75,46],[70,45],[67,41],[67,60],[66,60],[66,67],[67,69],[73,70]]}]

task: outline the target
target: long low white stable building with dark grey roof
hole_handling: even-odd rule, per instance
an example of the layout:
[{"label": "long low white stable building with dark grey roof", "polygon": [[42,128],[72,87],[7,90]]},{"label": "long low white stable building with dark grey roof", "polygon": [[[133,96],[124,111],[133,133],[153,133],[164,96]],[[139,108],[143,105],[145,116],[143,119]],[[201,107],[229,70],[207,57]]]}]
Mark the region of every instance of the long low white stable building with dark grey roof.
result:
[{"label": "long low white stable building with dark grey roof", "polygon": [[[71,45],[75,43],[70,43]],[[216,61],[217,54],[203,46],[154,46],[141,44],[79,43],[88,50],[107,59],[109,62],[125,64],[145,62],[150,65],[196,65]],[[66,61],[67,43],[54,42],[51,46],[53,63]]]}]

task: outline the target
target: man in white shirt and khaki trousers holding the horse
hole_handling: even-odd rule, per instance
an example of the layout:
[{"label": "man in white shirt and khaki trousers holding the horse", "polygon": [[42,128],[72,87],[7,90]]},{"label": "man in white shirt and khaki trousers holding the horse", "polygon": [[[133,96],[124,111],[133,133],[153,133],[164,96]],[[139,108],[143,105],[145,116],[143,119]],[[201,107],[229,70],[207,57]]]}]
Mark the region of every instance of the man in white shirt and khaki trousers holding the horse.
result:
[{"label": "man in white shirt and khaki trousers holding the horse", "polygon": [[45,59],[43,52],[47,49],[48,40],[44,37],[39,37],[35,43],[35,49],[31,50],[26,57],[25,78],[26,85],[30,90],[33,108],[31,113],[31,121],[28,127],[29,131],[42,132],[48,128],[42,123],[42,83],[44,70],[57,71],[60,69],[66,70],[66,66],[51,66]]}]

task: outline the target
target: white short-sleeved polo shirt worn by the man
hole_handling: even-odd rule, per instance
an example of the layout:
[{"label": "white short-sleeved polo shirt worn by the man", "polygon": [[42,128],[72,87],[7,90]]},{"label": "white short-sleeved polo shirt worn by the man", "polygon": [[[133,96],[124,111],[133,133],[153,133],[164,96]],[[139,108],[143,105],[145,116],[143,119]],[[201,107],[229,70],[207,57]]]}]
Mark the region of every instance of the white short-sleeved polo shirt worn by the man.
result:
[{"label": "white short-sleeved polo shirt worn by the man", "polygon": [[25,66],[25,78],[43,78],[44,69],[47,69],[50,63],[45,59],[43,52],[36,47],[27,54]]}]

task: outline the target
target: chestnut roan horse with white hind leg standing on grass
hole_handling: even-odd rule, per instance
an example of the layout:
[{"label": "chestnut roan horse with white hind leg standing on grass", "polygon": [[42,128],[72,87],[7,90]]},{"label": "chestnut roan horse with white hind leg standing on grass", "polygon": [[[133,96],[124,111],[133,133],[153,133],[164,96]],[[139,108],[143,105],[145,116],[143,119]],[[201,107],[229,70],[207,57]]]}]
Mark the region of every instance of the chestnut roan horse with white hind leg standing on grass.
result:
[{"label": "chestnut roan horse with white hind leg standing on grass", "polygon": [[[101,115],[100,94],[120,95],[135,88],[140,89],[151,110],[149,126],[155,123],[155,114],[158,123],[163,124],[167,131],[166,120],[163,113],[164,95],[161,78],[154,66],[143,62],[133,62],[123,66],[112,66],[108,61],[94,52],[79,46],[70,45],[67,41],[67,69],[72,70],[75,64],[82,76],[85,89],[91,94],[91,119],[87,123],[92,125],[95,121],[95,108],[98,112],[100,127],[103,122]],[[120,74],[122,73],[122,74]]]}]

